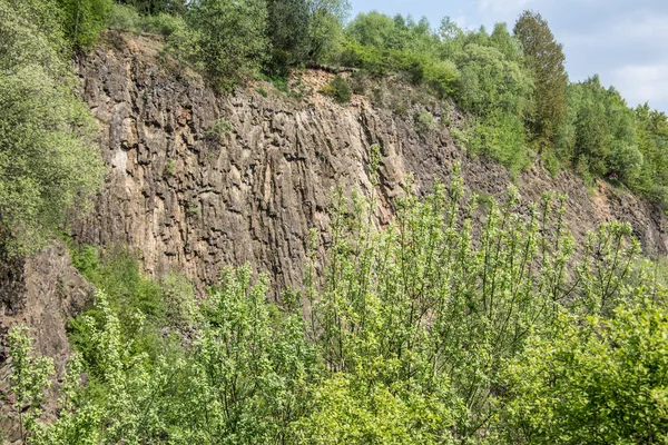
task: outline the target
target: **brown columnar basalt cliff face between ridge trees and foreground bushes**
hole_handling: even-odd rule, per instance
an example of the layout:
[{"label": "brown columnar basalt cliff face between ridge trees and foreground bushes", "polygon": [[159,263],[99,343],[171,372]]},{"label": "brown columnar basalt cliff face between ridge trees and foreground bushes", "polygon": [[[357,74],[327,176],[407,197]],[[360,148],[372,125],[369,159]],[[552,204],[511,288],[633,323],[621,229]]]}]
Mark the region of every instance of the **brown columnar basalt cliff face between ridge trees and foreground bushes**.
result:
[{"label": "brown columnar basalt cliff face between ridge trees and foreground bushes", "polygon": [[[420,191],[434,177],[448,180],[458,161],[472,190],[502,196],[512,182],[498,165],[469,158],[445,126],[419,134],[412,117],[365,98],[341,106],[317,92],[297,100],[254,88],[219,96],[196,76],[161,68],[156,40],[116,34],[107,43],[79,69],[110,172],[75,235],[128,245],[149,274],[185,273],[202,286],[224,265],[249,261],[275,288],[298,286],[310,229],[327,240],[331,189],[370,192],[373,144],[382,155],[381,222],[391,220],[406,174]],[[629,221],[647,249],[667,250],[665,217],[629,194],[601,184],[590,195],[574,175],[552,178],[538,167],[515,182],[528,200],[567,194],[577,237],[615,218]]]}]

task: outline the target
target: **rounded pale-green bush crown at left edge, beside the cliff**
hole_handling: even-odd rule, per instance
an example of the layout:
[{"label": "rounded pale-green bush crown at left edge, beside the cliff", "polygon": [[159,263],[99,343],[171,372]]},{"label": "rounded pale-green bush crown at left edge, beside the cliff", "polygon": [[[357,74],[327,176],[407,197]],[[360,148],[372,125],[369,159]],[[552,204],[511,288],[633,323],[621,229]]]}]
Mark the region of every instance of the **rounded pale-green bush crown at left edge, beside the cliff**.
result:
[{"label": "rounded pale-green bush crown at left edge, beside the cliff", "polygon": [[32,254],[88,208],[105,166],[87,108],[41,67],[0,75],[0,107],[1,224],[11,250]]}]

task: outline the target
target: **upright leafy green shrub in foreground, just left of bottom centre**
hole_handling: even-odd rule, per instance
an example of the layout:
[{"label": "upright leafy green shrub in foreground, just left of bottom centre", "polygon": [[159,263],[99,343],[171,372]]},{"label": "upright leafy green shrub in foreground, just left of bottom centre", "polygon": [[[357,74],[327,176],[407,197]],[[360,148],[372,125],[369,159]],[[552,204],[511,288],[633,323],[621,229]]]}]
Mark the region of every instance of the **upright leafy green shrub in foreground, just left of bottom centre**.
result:
[{"label": "upright leafy green shrub in foreground, just left of bottom centre", "polygon": [[266,278],[250,281],[248,267],[226,269],[202,308],[183,400],[188,408],[175,413],[190,441],[279,443],[303,409],[314,360],[303,318],[265,303]]}]

